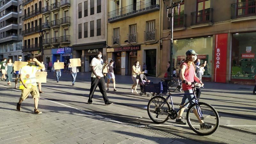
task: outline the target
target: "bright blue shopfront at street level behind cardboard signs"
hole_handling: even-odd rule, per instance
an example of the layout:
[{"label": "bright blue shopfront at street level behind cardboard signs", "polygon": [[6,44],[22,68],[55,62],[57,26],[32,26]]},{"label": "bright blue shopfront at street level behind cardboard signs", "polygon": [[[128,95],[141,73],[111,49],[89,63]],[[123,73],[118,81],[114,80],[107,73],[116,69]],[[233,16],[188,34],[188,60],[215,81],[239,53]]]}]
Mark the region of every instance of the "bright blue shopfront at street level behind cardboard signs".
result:
[{"label": "bright blue shopfront at street level behind cardboard signs", "polygon": [[59,59],[60,62],[65,62],[68,64],[69,59],[72,58],[72,48],[64,47],[58,49],[52,49],[52,61],[55,62]]}]

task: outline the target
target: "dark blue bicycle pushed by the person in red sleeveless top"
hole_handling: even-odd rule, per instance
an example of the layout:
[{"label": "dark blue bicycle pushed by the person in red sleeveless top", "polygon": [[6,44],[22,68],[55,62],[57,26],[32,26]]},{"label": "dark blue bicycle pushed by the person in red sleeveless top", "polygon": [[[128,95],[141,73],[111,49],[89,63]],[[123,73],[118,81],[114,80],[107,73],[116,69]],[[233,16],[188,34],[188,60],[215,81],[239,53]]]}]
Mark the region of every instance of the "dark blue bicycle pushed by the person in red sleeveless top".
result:
[{"label": "dark blue bicycle pushed by the person in red sleeveless top", "polygon": [[[164,85],[163,85],[164,86]],[[188,95],[194,95],[192,100],[195,100],[195,103],[191,104],[188,107],[186,117],[183,119],[187,119],[188,126],[197,134],[205,136],[214,133],[220,123],[220,117],[218,112],[208,103],[198,102],[196,96],[196,88],[200,88],[201,84],[192,83],[193,93]],[[148,102],[148,116],[150,119],[156,124],[163,124],[169,118],[176,119],[178,116],[178,112],[184,108],[188,103],[192,100],[186,102],[183,105],[180,105],[178,110],[174,110],[172,96],[173,95],[184,95],[184,94],[171,94],[169,91],[169,95],[167,98],[163,97],[164,94],[159,94],[152,97]],[[171,105],[170,107],[168,99],[170,98]],[[201,123],[200,123],[200,122]],[[203,121],[203,123],[202,123]]]}]

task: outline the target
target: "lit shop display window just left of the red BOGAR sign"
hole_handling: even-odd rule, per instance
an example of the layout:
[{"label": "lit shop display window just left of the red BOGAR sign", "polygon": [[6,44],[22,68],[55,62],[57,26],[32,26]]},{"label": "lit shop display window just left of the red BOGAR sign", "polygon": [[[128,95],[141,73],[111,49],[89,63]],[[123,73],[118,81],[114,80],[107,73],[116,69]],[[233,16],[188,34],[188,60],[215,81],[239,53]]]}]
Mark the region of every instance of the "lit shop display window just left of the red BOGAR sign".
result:
[{"label": "lit shop display window just left of the red BOGAR sign", "polygon": [[203,79],[211,80],[212,77],[212,50],[213,50],[213,38],[212,36],[201,38],[189,38],[173,41],[173,57],[174,67],[176,72],[180,72],[180,64],[182,59],[186,59],[186,51],[193,49],[198,54],[200,63],[203,64],[206,61],[204,67]]}]

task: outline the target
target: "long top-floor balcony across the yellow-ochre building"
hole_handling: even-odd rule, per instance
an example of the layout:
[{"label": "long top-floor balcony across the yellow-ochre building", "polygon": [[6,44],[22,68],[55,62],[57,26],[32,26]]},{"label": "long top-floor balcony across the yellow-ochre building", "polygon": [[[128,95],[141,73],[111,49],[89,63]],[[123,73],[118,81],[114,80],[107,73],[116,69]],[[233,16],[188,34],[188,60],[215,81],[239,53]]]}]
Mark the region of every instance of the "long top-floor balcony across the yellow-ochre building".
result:
[{"label": "long top-floor balcony across the yellow-ochre building", "polygon": [[118,20],[143,15],[153,11],[159,11],[160,0],[144,0],[131,4],[115,11],[108,12],[108,22],[112,23]]}]

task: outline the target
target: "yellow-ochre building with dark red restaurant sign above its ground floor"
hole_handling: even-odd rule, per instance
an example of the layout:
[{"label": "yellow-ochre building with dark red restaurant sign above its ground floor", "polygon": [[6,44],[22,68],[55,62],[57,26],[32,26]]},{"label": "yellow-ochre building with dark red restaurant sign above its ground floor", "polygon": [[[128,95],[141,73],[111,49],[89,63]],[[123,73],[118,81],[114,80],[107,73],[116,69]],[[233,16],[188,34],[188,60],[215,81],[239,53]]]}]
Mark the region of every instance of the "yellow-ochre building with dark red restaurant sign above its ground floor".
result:
[{"label": "yellow-ochre building with dark red restaurant sign above its ground floor", "polygon": [[108,0],[107,58],[116,74],[131,75],[135,61],[147,65],[148,76],[160,70],[162,0]]}]

